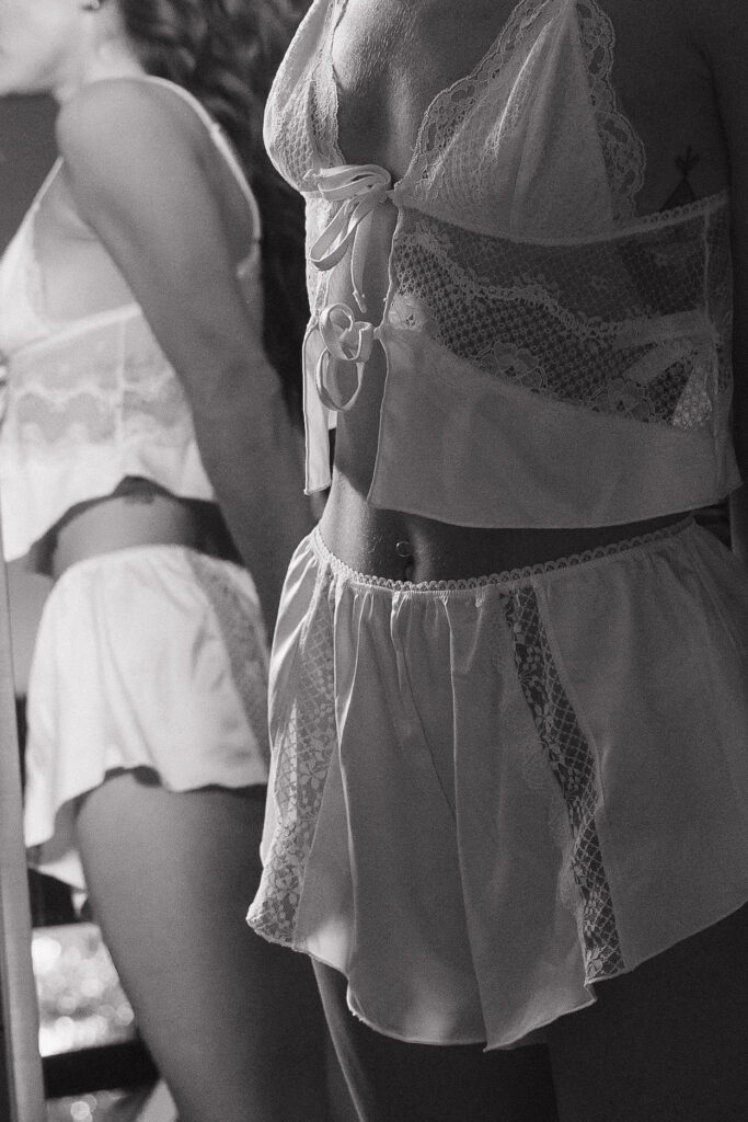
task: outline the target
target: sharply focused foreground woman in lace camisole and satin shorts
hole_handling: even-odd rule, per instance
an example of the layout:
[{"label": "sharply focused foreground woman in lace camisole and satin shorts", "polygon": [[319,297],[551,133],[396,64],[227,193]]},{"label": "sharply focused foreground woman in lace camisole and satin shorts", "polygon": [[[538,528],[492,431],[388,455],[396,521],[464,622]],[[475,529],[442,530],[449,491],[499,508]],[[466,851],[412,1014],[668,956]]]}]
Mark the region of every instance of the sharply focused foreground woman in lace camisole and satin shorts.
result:
[{"label": "sharply focused foreground woman in lace camisole and satin shorts", "polygon": [[336,438],[249,920],[367,1122],[746,1115],[748,579],[690,512],[748,465],[747,54],[730,0],[315,0],[276,76],[310,491]]}]

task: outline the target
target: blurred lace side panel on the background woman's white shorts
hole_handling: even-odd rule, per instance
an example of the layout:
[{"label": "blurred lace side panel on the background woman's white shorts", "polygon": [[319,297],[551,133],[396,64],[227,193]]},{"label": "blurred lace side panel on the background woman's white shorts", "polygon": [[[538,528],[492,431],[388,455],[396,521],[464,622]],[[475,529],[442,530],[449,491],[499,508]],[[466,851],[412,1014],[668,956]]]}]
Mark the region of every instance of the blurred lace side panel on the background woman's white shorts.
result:
[{"label": "blurred lace side panel on the background woman's white shorts", "polygon": [[237,583],[243,570],[186,551],[195,579],[207,598],[231,664],[231,678],[266,764],[270,763],[267,691],[268,651],[258,601]]}]

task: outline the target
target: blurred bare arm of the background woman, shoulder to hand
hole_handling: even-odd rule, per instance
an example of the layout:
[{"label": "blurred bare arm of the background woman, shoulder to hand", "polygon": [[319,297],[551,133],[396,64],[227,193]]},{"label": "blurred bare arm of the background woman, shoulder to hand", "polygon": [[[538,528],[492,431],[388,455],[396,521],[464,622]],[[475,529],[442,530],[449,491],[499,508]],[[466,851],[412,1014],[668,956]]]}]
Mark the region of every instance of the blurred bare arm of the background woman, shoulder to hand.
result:
[{"label": "blurred bare arm of the background woman, shoulder to hand", "polygon": [[204,165],[214,153],[160,93],[95,83],[61,110],[58,144],[81,217],[185,387],[205,470],[271,629],[288,559],[311,525],[297,442],[237,280]]}]

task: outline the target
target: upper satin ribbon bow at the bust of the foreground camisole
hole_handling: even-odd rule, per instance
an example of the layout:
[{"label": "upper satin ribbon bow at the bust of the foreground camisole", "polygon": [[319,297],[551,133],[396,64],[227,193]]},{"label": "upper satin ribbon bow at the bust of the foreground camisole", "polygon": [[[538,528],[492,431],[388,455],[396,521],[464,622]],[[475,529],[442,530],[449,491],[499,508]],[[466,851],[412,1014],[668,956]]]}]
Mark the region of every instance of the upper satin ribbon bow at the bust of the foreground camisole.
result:
[{"label": "upper satin ribbon bow at the bust of the foreground camisole", "polygon": [[331,269],[350,249],[351,287],[362,312],[366,312],[361,291],[363,261],[358,232],[364,219],[391,196],[391,183],[389,172],[378,164],[343,164],[322,168],[316,176],[320,194],[332,202],[342,201],[342,206],[311,247],[310,260],[318,269]]}]

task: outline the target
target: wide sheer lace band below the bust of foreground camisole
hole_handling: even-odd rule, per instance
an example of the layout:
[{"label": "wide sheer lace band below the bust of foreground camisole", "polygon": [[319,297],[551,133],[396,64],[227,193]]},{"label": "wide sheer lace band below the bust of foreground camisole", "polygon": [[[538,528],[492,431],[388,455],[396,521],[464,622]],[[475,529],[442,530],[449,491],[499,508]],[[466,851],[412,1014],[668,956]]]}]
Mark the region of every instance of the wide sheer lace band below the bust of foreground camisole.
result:
[{"label": "wide sheer lace band below the bust of foreground camisole", "polygon": [[729,380],[727,208],[576,245],[404,210],[388,319],[554,401],[699,429]]}]

